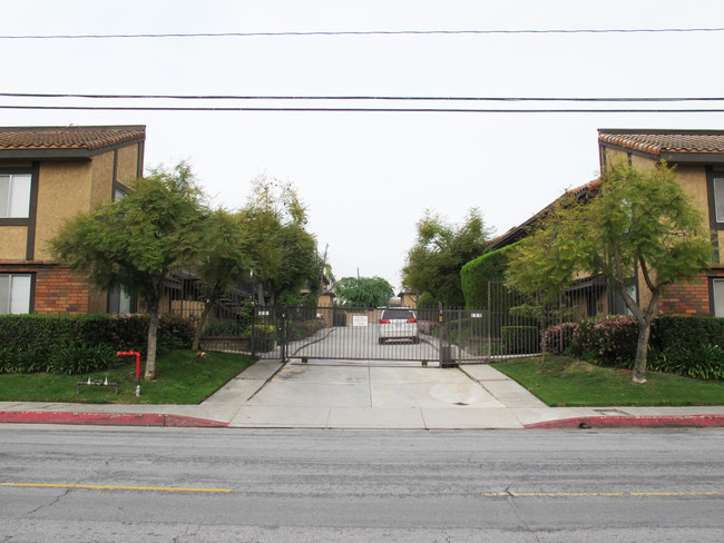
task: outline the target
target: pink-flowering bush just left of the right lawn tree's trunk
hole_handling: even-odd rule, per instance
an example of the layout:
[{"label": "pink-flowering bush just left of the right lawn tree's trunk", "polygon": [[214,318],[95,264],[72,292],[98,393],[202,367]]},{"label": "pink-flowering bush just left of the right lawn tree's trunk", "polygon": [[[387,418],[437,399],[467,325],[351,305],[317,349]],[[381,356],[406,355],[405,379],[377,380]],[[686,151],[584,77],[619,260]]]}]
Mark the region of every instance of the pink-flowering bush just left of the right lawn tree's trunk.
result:
[{"label": "pink-flowering bush just left of the right lawn tree's trunk", "polygon": [[629,367],[636,358],[638,324],[628,315],[587,318],[573,335],[574,352],[596,364]]}]

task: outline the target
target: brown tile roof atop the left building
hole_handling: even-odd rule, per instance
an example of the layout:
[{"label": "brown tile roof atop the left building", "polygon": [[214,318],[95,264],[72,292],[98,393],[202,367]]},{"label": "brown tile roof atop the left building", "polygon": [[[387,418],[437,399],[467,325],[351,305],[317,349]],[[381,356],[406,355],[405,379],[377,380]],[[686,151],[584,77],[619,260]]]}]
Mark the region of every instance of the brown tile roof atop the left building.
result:
[{"label": "brown tile roof atop the left building", "polygon": [[144,126],[115,127],[0,127],[2,149],[86,149],[144,140]]}]

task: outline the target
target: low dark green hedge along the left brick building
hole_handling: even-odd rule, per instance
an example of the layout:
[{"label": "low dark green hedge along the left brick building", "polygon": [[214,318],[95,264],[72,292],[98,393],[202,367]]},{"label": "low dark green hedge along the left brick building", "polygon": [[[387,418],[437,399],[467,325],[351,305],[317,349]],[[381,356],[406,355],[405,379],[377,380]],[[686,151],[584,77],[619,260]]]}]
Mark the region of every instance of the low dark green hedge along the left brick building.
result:
[{"label": "low dark green hedge along the left brick building", "polygon": [[[146,355],[148,315],[2,315],[0,373],[76,374],[109,367],[118,351]],[[189,347],[194,325],[160,317],[157,355]]]}]

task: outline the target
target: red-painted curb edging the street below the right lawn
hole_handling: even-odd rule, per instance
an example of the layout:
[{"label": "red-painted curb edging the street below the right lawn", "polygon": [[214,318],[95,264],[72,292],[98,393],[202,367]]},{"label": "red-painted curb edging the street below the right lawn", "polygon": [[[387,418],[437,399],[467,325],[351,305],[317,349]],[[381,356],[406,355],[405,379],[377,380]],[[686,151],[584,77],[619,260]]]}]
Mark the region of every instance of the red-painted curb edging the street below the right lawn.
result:
[{"label": "red-painted curb edging the street below the right lawn", "polygon": [[536,428],[718,428],[724,415],[581,416],[526,424]]}]

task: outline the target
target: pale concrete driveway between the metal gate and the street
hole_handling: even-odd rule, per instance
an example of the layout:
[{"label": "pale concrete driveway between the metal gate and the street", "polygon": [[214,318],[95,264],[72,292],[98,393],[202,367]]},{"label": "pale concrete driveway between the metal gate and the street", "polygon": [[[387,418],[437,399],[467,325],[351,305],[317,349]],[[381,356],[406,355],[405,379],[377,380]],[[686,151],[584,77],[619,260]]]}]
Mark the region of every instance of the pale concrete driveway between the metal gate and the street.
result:
[{"label": "pale concrete driveway between the metal gate and the street", "polygon": [[[473,367],[476,369],[471,369]],[[507,385],[508,389],[500,385]],[[515,398],[515,407],[545,407],[490,366],[470,366],[463,372],[459,368],[384,367],[372,363],[366,366],[288,363],[243,403],[229,425],[522,427],[511,412],[510,398]]]}]

